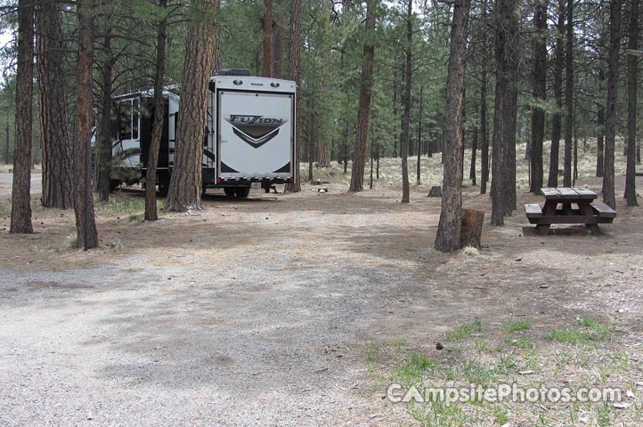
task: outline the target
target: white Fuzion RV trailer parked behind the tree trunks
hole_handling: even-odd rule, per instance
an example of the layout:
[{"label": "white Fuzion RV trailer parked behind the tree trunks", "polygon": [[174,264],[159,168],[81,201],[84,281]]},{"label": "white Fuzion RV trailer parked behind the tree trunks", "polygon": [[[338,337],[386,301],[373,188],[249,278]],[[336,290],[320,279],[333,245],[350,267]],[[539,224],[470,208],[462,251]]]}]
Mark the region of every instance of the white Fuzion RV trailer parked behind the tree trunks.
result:
[{"label": "white Fuzion RV trailer parked behind the tree trunks", "polygon": [[[250,77],[248,70],[222,70],[210,78],[206,140],[203,142],[203,189],[223,188],[231,197],[247,197],[250,188],[269,191],[297,178],[295,156],[296,84]],[[167,193],[174,166],[176,119],[181,108],[175,88],[164,91],[165,118],[157,181]],[[118,135],[113,143],[113,184],[141,181],[151,145],[153,93],[142,91],[116,99]]]}]

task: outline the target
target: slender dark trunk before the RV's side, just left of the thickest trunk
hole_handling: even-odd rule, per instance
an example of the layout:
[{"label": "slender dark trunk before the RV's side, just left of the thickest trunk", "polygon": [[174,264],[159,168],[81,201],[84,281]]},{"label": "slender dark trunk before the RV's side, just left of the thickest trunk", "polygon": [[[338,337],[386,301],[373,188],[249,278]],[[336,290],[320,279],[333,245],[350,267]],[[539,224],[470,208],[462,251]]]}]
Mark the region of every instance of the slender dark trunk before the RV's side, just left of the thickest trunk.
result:
[{"label": "slender dark trunk before the RV's side, just left of the thickest trunk", "polygon": [[157,165],[159,165],[159,148],[161,136],[163,135],[163,117],[165,116],[163,82],[166,64],[166,6],[167,0],[159,0],[159,8],[162,10],[162,15],[157,24],[156,73],[154,75],[154,122],[151,128],[150,154],[145,175],[146,221],[157,221],[159,219],[156,206],[156,171]]}]

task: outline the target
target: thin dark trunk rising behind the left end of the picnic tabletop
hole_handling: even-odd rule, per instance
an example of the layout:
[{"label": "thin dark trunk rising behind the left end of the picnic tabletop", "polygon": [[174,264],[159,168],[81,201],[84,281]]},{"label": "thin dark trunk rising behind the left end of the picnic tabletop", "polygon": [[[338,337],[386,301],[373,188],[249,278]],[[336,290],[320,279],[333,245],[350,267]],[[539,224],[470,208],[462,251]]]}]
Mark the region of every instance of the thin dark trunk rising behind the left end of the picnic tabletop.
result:
[{"label": "thin dark trunk rising behind the left end of the picnic tabletop", "polygon": [[563,109],[563,65],[565,63],[564,31],[565,0],[558,0],[558,23],[556,26],[556,47],[554,54],[554,99],[556,100],[556,112],[551,118],[548,187],[558,187],[558,151],[560,148],[561,130],[560,111]]}]

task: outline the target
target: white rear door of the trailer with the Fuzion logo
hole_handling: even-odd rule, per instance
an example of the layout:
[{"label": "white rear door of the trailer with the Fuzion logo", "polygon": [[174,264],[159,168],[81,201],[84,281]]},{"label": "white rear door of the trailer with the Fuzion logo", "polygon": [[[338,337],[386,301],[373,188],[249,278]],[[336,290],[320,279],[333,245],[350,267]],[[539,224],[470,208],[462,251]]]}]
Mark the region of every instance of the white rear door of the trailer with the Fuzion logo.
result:
[{"label": "white rear door of the trailer with the Fuzion logo", "polygon": [[217,91],[218,176],[223,180],[293,177],[295,96]]}]

